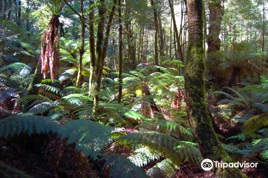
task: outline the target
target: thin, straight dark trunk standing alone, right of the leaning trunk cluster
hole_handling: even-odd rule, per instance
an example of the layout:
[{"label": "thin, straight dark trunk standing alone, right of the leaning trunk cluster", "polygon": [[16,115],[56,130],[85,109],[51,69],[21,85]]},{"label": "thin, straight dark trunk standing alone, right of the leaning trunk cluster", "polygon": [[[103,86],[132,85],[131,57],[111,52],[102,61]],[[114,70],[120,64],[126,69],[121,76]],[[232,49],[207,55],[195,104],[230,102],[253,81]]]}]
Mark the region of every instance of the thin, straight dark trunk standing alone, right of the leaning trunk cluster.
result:
[{"label": "thin, straight dark trunk standing alone, right of the leaning trunk cluster", "polygon": [[122,25],[122,15],[121,15],[121,0],[118,0],[118,14],[119,14],[119,94],[118,103],[121,103],[122,99],[122,84],[123,84],[123,25]]}]

